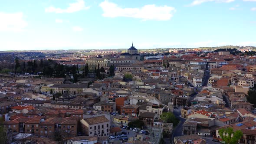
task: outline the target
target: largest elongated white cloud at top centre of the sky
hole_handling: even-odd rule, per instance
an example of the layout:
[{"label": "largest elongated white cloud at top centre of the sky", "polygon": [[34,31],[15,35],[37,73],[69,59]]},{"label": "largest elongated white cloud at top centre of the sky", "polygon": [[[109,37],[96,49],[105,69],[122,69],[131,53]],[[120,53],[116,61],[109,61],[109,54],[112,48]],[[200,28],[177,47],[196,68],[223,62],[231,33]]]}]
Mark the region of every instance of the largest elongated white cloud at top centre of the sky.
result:
[{"label": "largest elongated white cloud at top centre of the sky", "polygon": [[115,3],[105,0],[99,6],[103,10],[105,17],[132,17],[142,20],[170,20],[176,12],[174,7],[145,5],[141,8],[121,8]]}]

